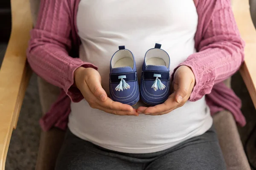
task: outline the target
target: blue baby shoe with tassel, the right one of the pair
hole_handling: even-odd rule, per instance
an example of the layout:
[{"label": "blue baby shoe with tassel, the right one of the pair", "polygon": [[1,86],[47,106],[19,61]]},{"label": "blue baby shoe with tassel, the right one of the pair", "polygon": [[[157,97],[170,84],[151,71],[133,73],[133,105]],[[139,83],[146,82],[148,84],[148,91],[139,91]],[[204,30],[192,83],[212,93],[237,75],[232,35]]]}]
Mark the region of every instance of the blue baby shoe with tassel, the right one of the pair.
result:
[{"label": "blue baby shoe with tassel, the right one of the pair", "polygon": [[147,105],[158,105],[170,95],[170,57],[160,49],[161,44],[149,49],[142,67],[140,95]]}]

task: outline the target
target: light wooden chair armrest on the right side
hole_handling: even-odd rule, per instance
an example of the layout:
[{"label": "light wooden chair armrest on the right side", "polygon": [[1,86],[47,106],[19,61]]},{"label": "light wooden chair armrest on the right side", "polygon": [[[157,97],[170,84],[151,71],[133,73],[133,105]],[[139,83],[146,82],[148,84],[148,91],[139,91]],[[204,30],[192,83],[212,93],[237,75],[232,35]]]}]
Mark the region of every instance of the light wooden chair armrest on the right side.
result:
[{"label": "light wooden chair armrest on the right side", "polygon": [[246,43],[240,73],[256,108],[256,29],[250,15],[249,0],[233,0],[232,8],[241,37]]}]

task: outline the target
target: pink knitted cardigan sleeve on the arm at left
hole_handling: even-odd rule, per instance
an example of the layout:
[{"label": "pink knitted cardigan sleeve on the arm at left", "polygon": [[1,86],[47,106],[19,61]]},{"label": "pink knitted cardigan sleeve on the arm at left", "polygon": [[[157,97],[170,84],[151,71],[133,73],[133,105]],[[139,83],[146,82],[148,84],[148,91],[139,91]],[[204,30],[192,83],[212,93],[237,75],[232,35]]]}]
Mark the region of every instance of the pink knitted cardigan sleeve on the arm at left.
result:
[{"label": "pink knitted cardigan sleeve on the arm at left", "polygon": [[79,89],[72,86],[74,71],[80,66],[97,68],[69,56],[72,45],[70,23],[67,0],[41,0],[37,23],[31,31],[27,59],[36,74],[63,88],[74,102],[78,102],[83,97]]}]

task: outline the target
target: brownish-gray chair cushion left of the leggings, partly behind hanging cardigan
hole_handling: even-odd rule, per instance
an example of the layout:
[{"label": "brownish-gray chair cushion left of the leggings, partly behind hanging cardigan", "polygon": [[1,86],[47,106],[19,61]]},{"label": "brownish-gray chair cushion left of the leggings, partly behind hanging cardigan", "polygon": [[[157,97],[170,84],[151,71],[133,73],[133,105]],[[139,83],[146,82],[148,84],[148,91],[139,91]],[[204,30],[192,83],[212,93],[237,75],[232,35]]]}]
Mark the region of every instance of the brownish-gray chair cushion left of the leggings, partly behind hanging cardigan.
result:
[{"label": "brownish-gray chair cushion left of the leggings, partly behind hanging cardigan", "polygon": [[[38,91],[43,114],[57,99],[60,89],[38,77]],[[41,132],[36,170],[54,170],[55,161],[63,142],[65,131],[52,128]]]}]

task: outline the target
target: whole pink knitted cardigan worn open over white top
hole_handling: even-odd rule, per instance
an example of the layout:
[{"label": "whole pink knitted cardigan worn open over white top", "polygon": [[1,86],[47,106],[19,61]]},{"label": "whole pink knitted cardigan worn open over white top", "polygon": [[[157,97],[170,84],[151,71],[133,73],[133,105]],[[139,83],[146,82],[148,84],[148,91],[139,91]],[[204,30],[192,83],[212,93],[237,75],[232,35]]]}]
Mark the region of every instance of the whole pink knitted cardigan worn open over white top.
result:
[{"label": "whole pink knitted cardigan worn open over white top", "polygon": [[[31,31],[27,51],[30,66],[40,77],[62,89],[58,100],[40,120],[43,130],[53,126],[67,128],[71,100],[79,102],[83,99],[80,91],[73,87],[74,71],[80,66],[97,69],[77,58],[81,43],[76,28],[79,1],[41,0],[38,20]],[[195,4],[198,12],[197,53],[180,63],[189,66],[195,74],[196,83],[189,100],[196,101],[206,95],[212,114],[229,110],[236,122],[244,126],[241,101],[223,83],[244,60],[244,42],[230,0],[197,0]]]}]

